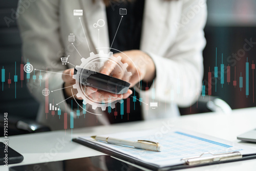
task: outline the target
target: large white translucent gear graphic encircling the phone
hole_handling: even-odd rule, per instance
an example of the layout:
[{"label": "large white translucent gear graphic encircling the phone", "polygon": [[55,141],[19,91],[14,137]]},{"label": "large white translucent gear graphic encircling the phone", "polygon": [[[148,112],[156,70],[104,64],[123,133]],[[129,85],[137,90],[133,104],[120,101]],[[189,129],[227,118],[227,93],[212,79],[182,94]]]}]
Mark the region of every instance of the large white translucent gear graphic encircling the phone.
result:
[{"label": "large white translucent gear graphic encircling the phone", "polygon": [[[92,68],[88,68],[88,67],[91,67],[91,66],[94,66],[93,64],[93,61],[95,60],[108,60],[110,59],[110,57],[115,58],[115,60],[113,60],[114,62],[117,63],[117,66],[119,68],[119,70],[122,70],[124,72],[124,80],[128,80],[129,77],[132,75],[131,72],[128,72],[127,71],[127,67],[128,67],[128,64],[127,63],[122,63],[121,62],[121,56],[118,56],[118,57],[114,57],[113,56],[113,52],[109,52],[108,54],[105,54],[103,51],[100,51],[98,54],[94,54],[93,52],[90,53],[90,57],[88,58],[81,58],[81,65],[80,66],[76,66],[75,68],[77,70],[80,70],[81,69],[92,69]],[[96,67],[95,67],[96,68]],[[95,70],[95,68],[93,68],[93,70]],[[99,66],[98,66],[99,68]],[[80,72],[82,73],[82,72]],[[92,109],[96,109],[96,108],[101,108],[102,111],[105,111],[106,110],[106,107],[108,106],[111,106],[112,109],[115,108],[115,104],[117,102],[120,102],[120,100],[116,100],[114,102],[110,102],[110,101],[107,101],[107,102],[98,102],[98,101],[94,101],[92,98],[88,97],[88,95],[86,95],[86,93],[82,90],[82,86],[85,86],[86,85],[83,85],[80,83],[80,79],[81,79],[81,76],[79,76],[80,74],[76,74],[76,75],[73,75],[73,78],[76,80],[76,83],[73,85],[73,88],[74,89],[77,89],[78,93],[76,94],[77,97],[81,97],[83,99],[83,104],[91,104],[92,105]]]}]

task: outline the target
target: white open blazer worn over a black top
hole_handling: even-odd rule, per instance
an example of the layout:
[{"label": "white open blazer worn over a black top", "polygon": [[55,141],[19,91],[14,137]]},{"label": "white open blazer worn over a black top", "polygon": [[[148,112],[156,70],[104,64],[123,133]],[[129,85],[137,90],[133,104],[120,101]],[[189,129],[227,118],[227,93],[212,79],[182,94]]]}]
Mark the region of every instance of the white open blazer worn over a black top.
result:
[{"label": "white open blazer worn over a black top", "polygon": [[[41,86],[38,81],[33,82],[32,79],[28,83],[32,94],[41,103],[37,121],[49,125],[52,130],[63,129],[62,114],[65,111],[68,114],[71,112],[70,106],[63,101],[65,91],[61,91],[67,78],[52,72],[67,73],[70,71],[68,69],[74,68],[73,65],[80,65],[81,56],[87,58],[91,52],[109,52],[111,45],[106,27],[108,23],[100,30],[94,28],[98,19],[107,20],[105,4],[101,0],[20,0],[19,7],[27,7],[18,17],[23,40],[23,57],[25,61],[29,60],[35,69],[51,71],[47,76],[46,72],[35,72],[37,78],[42,75]],[[73,15],[76,9],[83,10],[80,18]],[[141,78],[147,81],[154,78],[158,108],[145,111],[146,104],[142,103],[143,119],[177,117],[178,105],[188,106],[200,95],[203,76],[202,50],[206,44],[203,28],[206,17],[205,0],[145,1],[140,50],[127,52],[129,56],[146,55],[150,60]],[[70,33],[76,35],[76,49],[68,41]],[[62,65],[60,57],[68,54],[71,55],[70,63]],[[50,91],[61,89],[50,92],[49,95],[50,103],[53,99],[53,103],[59,103],[62,112],[60,118],[56,114],[51,116],[51,113],[45,112],[45,96],[42,95],[42,90],[45,88],[46,78],[49,79]],[[152,86],[147,91],[136,88],[142,99],[151,94],[152,89]],[[130,94],[131,91],[123,98]],[[77,106],[76,103],[73,105]],[[97,110],[97,114],[102,115],[89,112],[85,118],[76,118],[74,115],[74,127],[109,124],[104,113]]]}]

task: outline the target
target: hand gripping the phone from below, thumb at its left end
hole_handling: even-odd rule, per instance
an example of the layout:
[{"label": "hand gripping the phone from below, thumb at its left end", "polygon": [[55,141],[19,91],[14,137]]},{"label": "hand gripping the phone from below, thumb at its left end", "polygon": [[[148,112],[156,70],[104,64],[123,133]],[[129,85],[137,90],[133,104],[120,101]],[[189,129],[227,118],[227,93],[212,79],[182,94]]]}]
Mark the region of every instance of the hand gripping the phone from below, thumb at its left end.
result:
[{"label": "hand gripping the phone from below, thumb at its left end", "polygon": [[[64,92],[67,96],[72,96],[72,92],[75,98],[82,100],[81,97],[76,97],[75,95],[78,93],[77,89],[73,89],[73,85],[76,83],[75,79],[73,79],[74,75],[74,69],[67,69],[63,71],[62,79],[65,82],[64,83]],[[72,90],[72,92],[71,92]],[[126,99],[129,97],[133,92],[132,90],[127,91],[127,93],[124,94],[113,94],[101,90],[97,90],[96,88],[92,87],[83,87],[83,92],[87,95],[87,97],[92,98],[94,101],[107,101],[109,102],[109,98],[111,98],[111,102],[120,100],[120,99]]]}]

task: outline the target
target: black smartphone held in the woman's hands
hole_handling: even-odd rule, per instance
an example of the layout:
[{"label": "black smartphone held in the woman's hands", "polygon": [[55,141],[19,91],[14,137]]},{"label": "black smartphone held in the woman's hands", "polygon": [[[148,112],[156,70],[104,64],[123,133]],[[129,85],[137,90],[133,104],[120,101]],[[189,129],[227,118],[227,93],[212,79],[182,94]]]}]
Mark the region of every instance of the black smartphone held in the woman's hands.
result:
[{"label": "black smartphone held in the woman's hands", "polygon": [[84,86],[114,94],[126,93],[130,87],[129,82],[87,69],[75,68],[74,74],[79,74],[79,82]]}]

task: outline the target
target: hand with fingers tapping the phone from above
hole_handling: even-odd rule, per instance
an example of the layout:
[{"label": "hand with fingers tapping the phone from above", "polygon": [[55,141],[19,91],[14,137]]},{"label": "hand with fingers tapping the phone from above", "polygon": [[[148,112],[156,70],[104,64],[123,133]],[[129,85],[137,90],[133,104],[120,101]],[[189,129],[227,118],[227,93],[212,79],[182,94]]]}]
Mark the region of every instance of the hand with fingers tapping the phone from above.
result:
[{"label": "hand with fingers tapping the phone from above", "polygon": [[[131,83],[130,87],[134,87],[140,80],[145,82],[153,81],[156,68],[155,63],[150,56],[140,50],[124,51],[123,53],[115,53],[113,55],[114,57],[111,57],[111,60],[104,63],[104,68],[100,72],[105,75],[112,75],[117,66],[117,63],[115,62],[116,57],[121,56],[121,62],[128,64],[127,71],[132,72],[129,80],[125,80]],[[116,77],[124,80],[125,73],[118,74]]]}]

